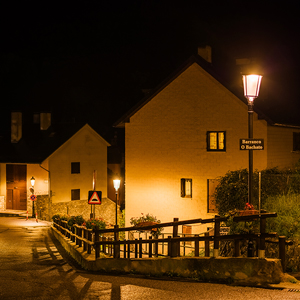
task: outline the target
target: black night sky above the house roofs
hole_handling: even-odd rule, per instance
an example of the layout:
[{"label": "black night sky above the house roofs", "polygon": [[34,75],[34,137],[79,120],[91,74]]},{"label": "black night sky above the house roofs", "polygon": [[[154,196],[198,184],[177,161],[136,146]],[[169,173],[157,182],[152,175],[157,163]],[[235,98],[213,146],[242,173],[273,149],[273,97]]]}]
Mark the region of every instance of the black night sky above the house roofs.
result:
[{"label": "black night sky above the house roofs", "polygon": [[144,89],[206,44],[232,86],[241,84],[235,59],[255,57],[264,72],[255,105],[274,121],[300,125],[299,8],[264,2],[1,4],[1,129],[10,110],[50,110],[54,120],[89,122],[105,135]]}]

